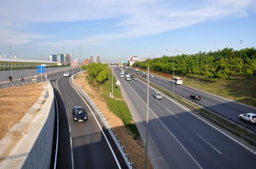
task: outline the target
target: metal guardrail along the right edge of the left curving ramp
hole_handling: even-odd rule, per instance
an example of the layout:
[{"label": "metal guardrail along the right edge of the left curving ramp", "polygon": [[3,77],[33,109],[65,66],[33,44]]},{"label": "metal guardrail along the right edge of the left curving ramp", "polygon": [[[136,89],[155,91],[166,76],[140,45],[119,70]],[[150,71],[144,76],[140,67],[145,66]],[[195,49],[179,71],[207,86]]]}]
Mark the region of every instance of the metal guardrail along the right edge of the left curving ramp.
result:
[{"label": "metal guardrail along the right edge of the left curving ramp", "polygon": [[118,150],[120,151],[120,153],[122,154],[123,156],[123,159],[126,163],[126,165],[130,168],[130,169],[133,169],[135,168],[134,166],[134,162],[130,162],[129,160],[129,154],[126,154],[125,153],[125,147],[122,147],[121,146],[121,140],[118,140],[118,135],[115,134],[115,131],[114,129],[110,126],[108,120],[104,117],[104,115],[102,114],[102,112],[100,111],[100,109],[97,107],[97,105],[94,103],[94,101],[89,97],[89,95],[83,90],[81,89],[77,83],[75,82],[74,78],[73,78],[74,75],[71,76],[71,80],[72,82],[75,84],[75,86],[80,90],[80,92],[83,94],[83,96],[91,103],[91,105],[93,106],[94,110],[98,113],[102,123],[104,124],[104,126],[106,127],[106,129],[108,129],[111,137],[113,138]]}]

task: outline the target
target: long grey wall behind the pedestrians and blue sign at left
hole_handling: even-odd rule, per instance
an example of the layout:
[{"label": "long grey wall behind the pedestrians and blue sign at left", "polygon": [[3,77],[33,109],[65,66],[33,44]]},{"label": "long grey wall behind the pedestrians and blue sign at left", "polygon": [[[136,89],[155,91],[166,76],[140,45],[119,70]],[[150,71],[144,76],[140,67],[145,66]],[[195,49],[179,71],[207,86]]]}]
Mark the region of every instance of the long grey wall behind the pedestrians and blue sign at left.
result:
[{"label": "long grey wall behind the pedestrians and blue sign at left", "polygon": [[[71,68],[66,67],[66,68]],[[56,67],[56,68],[51,68],[50,67],[50,72],[54,72],[54,71],[58,71],[58,70],[63,70],[65,69],[65,67]],[[49,68],[46,69],[46,73],[49,73]],[[8,81],[8,77],[11,74],[10,70],[7,71],[0,71],[0,81]],[[30,77],[30,76],[34,76],[34,75],[41,75],[40,73],[37,73],[37,69],[26,69],[26,70],[13,70],[12,71],[12,78],[13,80],[20,80],[21,77]]]}]

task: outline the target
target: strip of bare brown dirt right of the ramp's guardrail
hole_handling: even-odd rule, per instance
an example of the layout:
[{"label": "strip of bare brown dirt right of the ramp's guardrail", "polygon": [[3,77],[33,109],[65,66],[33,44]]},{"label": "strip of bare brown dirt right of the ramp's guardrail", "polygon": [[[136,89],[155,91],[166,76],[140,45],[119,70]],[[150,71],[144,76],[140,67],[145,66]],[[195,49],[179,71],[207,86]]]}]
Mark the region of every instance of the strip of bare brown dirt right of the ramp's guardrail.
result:
[{"label": "strip of bare brown dirt right of the ramp's guardrail", "polygon": [[[84,74],[86,75],[86,74]],[[114,115],[104,102],[104,98],[100,97],[101,90],[90,87],[88,82],[82,77],[83,90],[93,99],[95,104],[99,107],[105,118],[115,130],[118,138],[121,140],[122,146],[125,147],[125,152],[130,154],[130,161],[135,163],[136,168],[144,168],[144,144],[142,140],[134,139],[133,134],[123,125],[121,119]],[[80,84],[79,79],[75,79],[77,84]],[[147,168],[153,168],[150,157],[147,157]]]}]

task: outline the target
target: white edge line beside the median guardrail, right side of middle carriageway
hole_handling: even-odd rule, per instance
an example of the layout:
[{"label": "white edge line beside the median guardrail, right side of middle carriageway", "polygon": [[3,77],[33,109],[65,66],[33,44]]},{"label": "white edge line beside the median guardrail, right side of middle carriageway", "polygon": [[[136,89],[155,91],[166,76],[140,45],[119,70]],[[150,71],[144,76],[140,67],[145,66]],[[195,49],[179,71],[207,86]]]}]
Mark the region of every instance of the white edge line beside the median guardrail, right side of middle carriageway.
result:
[{"label": "white edge line beside the median guardrail, right side of middle carriageway", "polygon": [[[144,83],[143,81],[141,81],[142,83]],[[146,83],[144,83],[144,85],[146,85]],[[222,134],[224,134],[225,136],[227,136],[228,138],[232,139],[234,142],[236,142],[237,144],[239,144],[240,146],[244,147],[246,150],[249,150],[251,153],[256,155],[256,152],[254,152],[253,150],[251,150],[250,148],[246,147],[245,145],[243,145],[242,143],[240,143],[238,140],[232,138],[231,136],[227,135],[226,133],[224,133],[223,131],[221,131],[220,129],[218,129],[217,127],[213,126],[212,124],[210,124],[209,122],[207,122],[206,120],[202,119],[201,117],[195,115],[193,112],[191,112],[190,110],[188,110],[187,108],[183,107],[182,105],[176,103],[175,101],[173,101],[172,99],[170,99],[168,96],[166,96],[165,94],[163,94],[162,92],[150,87],[151,89],[161,93],[163,96],[165,96],[168,100],[174,102],[175,104],[177,104],[178,106],[180,106],[181,108],[183,108],[184,110],[186,110],[187,112],[189,112],[191,115],[195,116],[196,118],[202,120],[203,122],[205,122],[206,124],[208,124],[209,126],[211,126],[212,128],[216,129],[217,131],[221,132]]]}]

